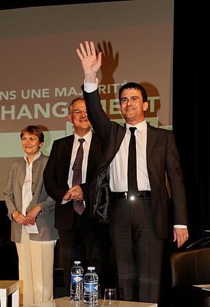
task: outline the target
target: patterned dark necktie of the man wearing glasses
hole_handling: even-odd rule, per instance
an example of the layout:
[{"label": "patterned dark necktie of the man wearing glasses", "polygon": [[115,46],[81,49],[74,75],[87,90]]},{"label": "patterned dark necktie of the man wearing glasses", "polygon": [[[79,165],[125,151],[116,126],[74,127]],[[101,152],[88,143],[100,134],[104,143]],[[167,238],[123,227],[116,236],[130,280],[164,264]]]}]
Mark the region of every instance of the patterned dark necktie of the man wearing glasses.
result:
[{"label": "patterned dark necktie of the man wearing glasses", "polygon": [[[77,156],[73,164],[73,187],[75,185],[81,185],[81,166],[83,161],[83,142],[85,139],[79,139],[80,145],[77,150]],[[84,211],[83,200],[73,200],[74,209],[79,215]]]}]

